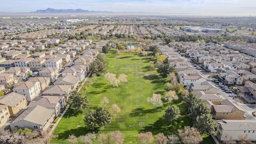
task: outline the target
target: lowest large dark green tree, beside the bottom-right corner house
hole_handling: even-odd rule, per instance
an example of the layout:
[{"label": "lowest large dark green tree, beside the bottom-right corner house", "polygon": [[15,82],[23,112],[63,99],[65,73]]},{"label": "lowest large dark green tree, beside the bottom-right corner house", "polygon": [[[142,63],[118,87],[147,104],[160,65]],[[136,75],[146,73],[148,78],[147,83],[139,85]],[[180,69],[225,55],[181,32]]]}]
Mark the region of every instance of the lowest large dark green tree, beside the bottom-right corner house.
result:
[{"label": "lowest large dark green tree, beside the bottom-right corner house", "polygon": [[194,127],[200,131],[201,136],[203,134],[216,135],[215,128],[217,127],[217,123],[212,119],[211,114],[202,114],[201,116],[197,116]]}]

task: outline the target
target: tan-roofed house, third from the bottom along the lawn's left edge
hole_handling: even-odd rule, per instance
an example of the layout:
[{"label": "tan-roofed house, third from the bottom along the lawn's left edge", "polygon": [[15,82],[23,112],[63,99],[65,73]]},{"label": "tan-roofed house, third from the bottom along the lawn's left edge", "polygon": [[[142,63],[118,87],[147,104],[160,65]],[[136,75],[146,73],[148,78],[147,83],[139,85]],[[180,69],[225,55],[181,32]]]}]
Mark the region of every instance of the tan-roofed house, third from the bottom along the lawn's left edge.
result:
[{"label": "tan-roofed house, third from the bottom along the lawn's left edge", "polygon": [[71,85],[52,85],[42,92],[42,96],[64,96],[65,102],[68,102],[71,96]]}]

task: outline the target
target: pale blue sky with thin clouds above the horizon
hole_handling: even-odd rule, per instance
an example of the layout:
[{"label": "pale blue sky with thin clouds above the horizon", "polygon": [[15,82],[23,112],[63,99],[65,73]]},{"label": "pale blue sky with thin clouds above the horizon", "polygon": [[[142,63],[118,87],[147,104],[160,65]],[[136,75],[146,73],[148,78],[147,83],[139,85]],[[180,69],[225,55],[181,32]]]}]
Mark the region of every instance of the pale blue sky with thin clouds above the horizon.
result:
[{"label": "pale blue sky with thin clouds above the horizon", "polygon": [[83,9],[202,16],[256,16],[256,0],[0,0],[0,12]]}]

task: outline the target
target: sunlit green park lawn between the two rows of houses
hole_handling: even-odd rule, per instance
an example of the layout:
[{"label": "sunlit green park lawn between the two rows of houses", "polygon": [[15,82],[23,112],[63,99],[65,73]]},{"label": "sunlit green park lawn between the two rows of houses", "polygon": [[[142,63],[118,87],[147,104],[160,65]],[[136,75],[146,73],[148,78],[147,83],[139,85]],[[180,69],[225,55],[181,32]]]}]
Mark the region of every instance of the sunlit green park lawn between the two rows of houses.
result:
[{"label": "sunlit green park lawn between the two rows of houses", "polygon": [[[100,101],[105,96],[110,101],[106,104],[109,110],[114,103],[121,108],[121,112],[113,116],[109,125],[96,129],[96,134],[120,130],[125,135],[124,143],[136,144],[136,138],[142,132],[143,125],[144,132],[150,131],[153,135],[160,132],[165,135],[177,134],[177,129],[192,125],[185,115],[186,107],[180,99],[171,104],[176,104],[180,108],[183,117],[170,126],[162,117],[167,102],[164,106],[155,109],[152,104],[146,102],[146,98],[151,97],[153,93],[164,95],[163,85],[167,82],[166,78],[161,78],[156,73],[156,68],[150,68],[149,61],[151,61],[149,57],[139,57],[136,54],[132,57],[127,53],[122,53],[120,56],[114,53],[106,54],[107,72],[116,74],[116,77],[124,73],[128,76],[128,82],[120,83],[114,90],[104,76],[98,76],[95,83],[91,78],[92,83],[89,86],[86,84],[88,86],[86,91],[80,91],[88,96],[90,108],[102,106]],[[149,76],[150,74],[152,75]],[[53,138],[51,143],[68,143],[65,139],[71,134],[80,136],[91,132],[83,121],[85,112],[74,114],[72,108],[69,108],[54,130],[54,135],[59,137]],[[212,143],[212,138],[205,139],[208,144]]]}]

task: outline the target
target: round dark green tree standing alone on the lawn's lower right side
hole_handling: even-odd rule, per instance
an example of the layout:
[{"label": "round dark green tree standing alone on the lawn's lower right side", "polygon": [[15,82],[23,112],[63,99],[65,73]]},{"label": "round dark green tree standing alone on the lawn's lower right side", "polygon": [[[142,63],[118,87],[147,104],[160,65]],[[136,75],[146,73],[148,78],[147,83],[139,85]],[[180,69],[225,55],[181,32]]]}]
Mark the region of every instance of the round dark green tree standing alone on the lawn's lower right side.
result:
[{"label": "round dark green tree standing alone on the lawn's lower right side", "polygon": [[180,109],[176,105],[168,106],[164,112],[164,118],[170,122],[170,124],[180,117]]}]

